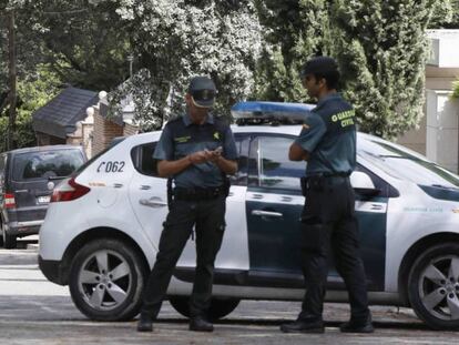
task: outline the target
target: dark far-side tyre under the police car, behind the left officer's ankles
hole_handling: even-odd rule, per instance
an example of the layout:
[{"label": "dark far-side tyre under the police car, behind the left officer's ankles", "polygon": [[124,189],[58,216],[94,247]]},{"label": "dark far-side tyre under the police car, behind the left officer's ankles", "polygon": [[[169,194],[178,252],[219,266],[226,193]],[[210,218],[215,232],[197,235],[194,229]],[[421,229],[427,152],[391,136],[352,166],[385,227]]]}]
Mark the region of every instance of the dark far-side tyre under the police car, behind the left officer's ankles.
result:
[{"label": "dark far-side tyre under the police car, behind the left officer's ankles", "polygon": [[[187,296],[173,296],[169,298],[175,311],[183,316],[190,317],[188,307],[190,297]],[[212,298],[211,307],[208,310],[208,318],[216,321],[231,314],[239,304],[239,300],[235,298]]]}]

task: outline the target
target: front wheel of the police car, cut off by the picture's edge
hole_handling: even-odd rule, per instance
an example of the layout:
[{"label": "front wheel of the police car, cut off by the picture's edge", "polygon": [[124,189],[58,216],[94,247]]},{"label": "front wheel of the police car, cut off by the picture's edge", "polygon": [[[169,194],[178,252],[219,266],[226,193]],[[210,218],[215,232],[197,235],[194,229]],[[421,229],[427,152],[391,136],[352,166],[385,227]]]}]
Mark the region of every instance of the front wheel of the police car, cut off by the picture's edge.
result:
[{"label": "front wheel of the police car, cut off by the picture's edge", "polygon": [[459,244],[424,251],[408,278],[408,297],[419,318],[435,329],[459,327]]}]

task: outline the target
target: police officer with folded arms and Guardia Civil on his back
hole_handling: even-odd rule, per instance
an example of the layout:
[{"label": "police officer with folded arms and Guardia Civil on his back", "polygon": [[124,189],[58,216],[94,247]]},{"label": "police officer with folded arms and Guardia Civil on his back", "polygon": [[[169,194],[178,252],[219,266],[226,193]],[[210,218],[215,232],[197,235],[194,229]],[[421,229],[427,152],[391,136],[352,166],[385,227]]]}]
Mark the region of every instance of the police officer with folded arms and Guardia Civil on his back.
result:
[{"label": "police officer with folded arms and Guardia Civil on his back", "polygon": [[323,304],[333,251],[350,302],[350,321],[341,332],[371,333],[364,265],[358,253],[358,223],[349,175],[356,166],[353,106],[337,93],[339,72],[334,59],[317,57],[302,69],[302,82],[317,106],[289,148],[292,161],[307,161],[302,179],[306,196],[302,213],[303,273],[306,293],[296,322],[283,332],[323,333]]}]

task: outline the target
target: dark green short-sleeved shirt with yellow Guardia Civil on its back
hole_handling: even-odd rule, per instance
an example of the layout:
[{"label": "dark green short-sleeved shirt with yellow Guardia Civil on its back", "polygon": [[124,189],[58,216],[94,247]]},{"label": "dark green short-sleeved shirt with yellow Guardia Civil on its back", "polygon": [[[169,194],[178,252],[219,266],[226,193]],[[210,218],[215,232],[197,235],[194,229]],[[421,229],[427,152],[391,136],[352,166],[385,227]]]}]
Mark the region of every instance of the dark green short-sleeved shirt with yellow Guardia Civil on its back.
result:
[{"label": "dark green short-sleeved shirt with yellow Guardia Civil on its back", "polygon": [[295,142],[309,152],[306,176],[350,174],[356,166],[355,111],[339,93],[323,98]]}]

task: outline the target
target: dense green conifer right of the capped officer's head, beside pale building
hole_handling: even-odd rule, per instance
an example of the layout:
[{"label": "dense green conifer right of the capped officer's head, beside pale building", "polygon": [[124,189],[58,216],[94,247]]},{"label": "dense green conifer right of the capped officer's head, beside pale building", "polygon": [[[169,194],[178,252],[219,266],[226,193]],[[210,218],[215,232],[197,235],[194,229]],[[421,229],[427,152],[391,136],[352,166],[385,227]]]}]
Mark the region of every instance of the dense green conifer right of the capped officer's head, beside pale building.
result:
[{"label": "dense green conifer right of the capped officer's head, beside pale building", "polygon": [[338,59],[347,98],[360,130],[392,138],[422,116],[425,34],[435,0],[335,0],[332,53]]}]

